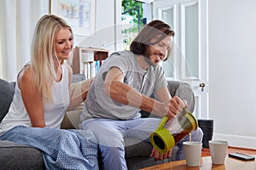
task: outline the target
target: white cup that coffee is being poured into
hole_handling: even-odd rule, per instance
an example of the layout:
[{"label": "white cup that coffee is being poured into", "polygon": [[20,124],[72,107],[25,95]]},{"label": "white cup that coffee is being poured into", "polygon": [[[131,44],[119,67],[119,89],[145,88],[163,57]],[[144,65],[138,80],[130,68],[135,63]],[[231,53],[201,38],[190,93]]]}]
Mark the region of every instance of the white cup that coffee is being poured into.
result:
[{"label": "white cup that coffee is being poured into", "polygon": [[186,164],[189,167],[197,167],[201,160],[201,142],[188,141],[183,142],[183,150]]}]

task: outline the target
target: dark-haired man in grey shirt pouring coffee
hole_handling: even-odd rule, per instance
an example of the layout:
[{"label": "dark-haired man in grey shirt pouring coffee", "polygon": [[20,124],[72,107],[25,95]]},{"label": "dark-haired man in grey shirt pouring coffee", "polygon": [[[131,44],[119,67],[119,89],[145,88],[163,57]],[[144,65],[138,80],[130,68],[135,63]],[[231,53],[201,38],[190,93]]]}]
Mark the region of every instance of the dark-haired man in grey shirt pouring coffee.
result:
[{"label": "dark-haired man in grey shirt pouring coffee", "polygon": [[[111,54],[94,78],[80,121],[84,130],[95,133],[104,169],[127,169],[124,138],[149,142],[160,118],[141,118],[141,110],[172,118],[188,106],[177,96],[171,97],[159,65],[171,53],[173,36],[174,31],[166,23],[148,23],[131,42],[130,51]],[[151,94],[157,100],[150,98]],[[192,136],[201,141],[201,129]],[[182,144],[179,147],[183,150]],[[183,152],[179,153],[178,159],[183,159]],[[153,149],[151,156],[162,160],[171,156],[171,150],[160,154]]]}]

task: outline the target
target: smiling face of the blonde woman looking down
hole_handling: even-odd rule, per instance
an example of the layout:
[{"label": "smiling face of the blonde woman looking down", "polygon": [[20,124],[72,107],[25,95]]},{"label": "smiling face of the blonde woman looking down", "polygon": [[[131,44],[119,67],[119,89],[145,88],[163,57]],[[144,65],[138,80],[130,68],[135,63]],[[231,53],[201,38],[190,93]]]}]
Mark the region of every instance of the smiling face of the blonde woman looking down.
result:
[{"label": "smiling face of the blonde woman looking down", "polygon": [[61,28],[55,39],[55,52],[59,60],[68,59],[73,49],[73,34],[68,28]]}]

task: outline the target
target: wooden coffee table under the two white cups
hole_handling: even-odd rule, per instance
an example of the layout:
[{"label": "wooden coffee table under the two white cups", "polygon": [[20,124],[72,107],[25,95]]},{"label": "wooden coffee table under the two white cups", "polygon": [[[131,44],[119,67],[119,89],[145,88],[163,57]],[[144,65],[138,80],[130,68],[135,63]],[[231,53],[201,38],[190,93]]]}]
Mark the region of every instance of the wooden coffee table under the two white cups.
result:
[{"label": "wooden coffee table under the two white cups", "polygon": [[[256,155],[254,155],[256,156]],[[226,157],[224,165],[214,165],[212,164],[211,156],[201,157],[199,167],[188,167],[186,166],[186,161],[171,161],[167,163],[162,163],[152,167],[145,167],[142,170],[256,170],[256,161],[240,161],[234,158]]]}]

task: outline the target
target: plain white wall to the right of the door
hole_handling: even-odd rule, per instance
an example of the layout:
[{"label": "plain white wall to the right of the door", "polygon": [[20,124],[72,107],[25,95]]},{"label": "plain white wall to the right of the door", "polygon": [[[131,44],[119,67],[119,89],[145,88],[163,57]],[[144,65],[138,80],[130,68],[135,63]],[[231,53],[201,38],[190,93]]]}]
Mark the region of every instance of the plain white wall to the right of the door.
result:
[{"label": "plain white wall to the right of the door", "polygon": [[256,149],[256,1],[209,0],[213,139]]}]

